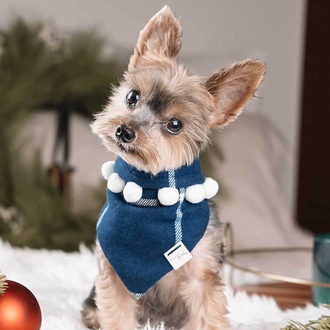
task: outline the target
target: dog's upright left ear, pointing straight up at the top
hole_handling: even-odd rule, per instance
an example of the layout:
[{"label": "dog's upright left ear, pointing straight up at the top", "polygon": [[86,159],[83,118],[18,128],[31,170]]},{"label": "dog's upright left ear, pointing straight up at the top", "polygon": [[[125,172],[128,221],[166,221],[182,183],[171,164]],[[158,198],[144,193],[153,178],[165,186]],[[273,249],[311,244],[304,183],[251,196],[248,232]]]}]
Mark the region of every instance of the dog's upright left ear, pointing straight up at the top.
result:
[{"label": "dog's upright left ear, pointing straight up at the top", "polygon": [[181,49],[181,25],[168,6],[154,15],[140,32],[128,69],[133,69],[147,52],[158,53],[169,58],[178,55]]}]

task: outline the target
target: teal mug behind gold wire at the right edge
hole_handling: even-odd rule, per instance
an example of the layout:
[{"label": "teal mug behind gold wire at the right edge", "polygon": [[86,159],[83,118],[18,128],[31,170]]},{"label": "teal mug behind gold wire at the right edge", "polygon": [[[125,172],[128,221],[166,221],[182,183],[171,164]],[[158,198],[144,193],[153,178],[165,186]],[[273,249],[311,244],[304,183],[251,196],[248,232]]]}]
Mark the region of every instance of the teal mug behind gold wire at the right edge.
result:
[{"label": "teal mug behind gold wire at the right edge", "polygon": [[[330,233],[314,236],[313,280],[330,283]],[[330,288],[313,286],[313,304],[329,304]]]}]

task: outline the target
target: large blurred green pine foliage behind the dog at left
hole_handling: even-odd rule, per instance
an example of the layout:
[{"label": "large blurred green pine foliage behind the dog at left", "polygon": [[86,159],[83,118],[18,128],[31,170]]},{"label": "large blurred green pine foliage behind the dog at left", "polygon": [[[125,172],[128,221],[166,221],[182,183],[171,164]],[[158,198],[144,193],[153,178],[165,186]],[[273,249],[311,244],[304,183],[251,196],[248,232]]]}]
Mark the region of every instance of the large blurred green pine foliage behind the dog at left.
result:
[{"label": "large blurred green pine foliage behind the dog at left", "polygon": [[22,18],[0,30],[0,236],[12,245],[71,251],[94,242],[105,185],[102,194],[86,189],[94,202],[74,213],[19,132],[37,108],[65,104],[84,115],[101,109],[122,71],[104,57],[104,46],[95,31],[61,36],[52,25]]}]

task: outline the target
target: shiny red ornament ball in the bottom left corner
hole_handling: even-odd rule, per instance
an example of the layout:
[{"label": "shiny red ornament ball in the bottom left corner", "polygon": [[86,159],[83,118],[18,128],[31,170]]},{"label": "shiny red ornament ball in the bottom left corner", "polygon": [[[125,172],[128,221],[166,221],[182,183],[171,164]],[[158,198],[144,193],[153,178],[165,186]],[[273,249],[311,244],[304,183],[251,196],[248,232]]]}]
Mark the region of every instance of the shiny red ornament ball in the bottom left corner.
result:
[{"label": "shiny red ornament ball in the bottom left corner", "polygon": [[0,329],[40,330],[41,310],[36,297],[24,285],[6,282],[8,288],[0,295]]}]

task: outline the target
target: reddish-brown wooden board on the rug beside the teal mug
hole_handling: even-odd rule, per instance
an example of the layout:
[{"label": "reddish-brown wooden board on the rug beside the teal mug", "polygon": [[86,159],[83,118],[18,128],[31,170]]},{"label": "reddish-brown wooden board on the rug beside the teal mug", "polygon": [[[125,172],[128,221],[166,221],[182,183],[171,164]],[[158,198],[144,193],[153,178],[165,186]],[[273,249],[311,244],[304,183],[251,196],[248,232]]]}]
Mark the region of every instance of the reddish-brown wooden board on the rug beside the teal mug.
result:
[{"label": "reddish-brown wooden board on the rug beside the teal mug", "polygon": [[258,294],[274,298],[281,310],[296,307],[305,307],[312,301],[310,285],[294,283],[269,283],[244,285],[235,288],[235,291],[246,291],[248,295]]}]

